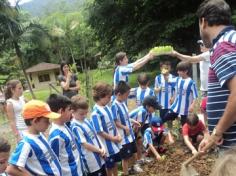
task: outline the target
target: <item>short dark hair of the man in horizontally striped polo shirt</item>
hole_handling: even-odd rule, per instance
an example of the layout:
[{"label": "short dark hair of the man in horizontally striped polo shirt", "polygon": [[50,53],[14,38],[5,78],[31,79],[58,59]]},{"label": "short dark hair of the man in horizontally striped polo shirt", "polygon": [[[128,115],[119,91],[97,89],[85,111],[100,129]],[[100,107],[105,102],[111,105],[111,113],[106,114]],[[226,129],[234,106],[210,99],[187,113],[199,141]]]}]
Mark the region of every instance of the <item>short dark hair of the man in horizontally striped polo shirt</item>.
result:
[{"label": "short dark hair of the man in horizontally striped polo shirt", "polygon": [[199,20],[204,18],[209,26],[231,24],[231,10],[224,0],[203,1],[197,10],[197,16]]}]

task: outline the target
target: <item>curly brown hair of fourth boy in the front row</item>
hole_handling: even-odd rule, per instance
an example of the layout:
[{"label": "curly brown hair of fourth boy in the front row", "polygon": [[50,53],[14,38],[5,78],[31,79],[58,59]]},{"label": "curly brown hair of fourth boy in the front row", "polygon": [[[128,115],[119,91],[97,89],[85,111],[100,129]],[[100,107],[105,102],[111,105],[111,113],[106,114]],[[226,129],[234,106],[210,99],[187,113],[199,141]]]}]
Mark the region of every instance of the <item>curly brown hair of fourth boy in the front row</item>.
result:
[{"label": "curly brown hair of fourth boy in the front row", "polygon": [[93,99],[95,102],[111,94],[112,87],[110,84],[107,84],[105,82],[98,82],[93,87]]}]

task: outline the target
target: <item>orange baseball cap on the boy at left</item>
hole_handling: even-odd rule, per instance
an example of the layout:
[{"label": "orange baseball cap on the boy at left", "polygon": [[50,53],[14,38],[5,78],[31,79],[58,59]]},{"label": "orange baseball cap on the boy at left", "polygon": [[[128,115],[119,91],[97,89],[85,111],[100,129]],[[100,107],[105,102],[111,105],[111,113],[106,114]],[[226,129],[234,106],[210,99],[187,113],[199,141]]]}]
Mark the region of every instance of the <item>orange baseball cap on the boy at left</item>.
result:
[{"label": "orange baseball cap on the boy at left", "polygon": [[40,100],[30,100],[27,102],[22,111],[24,119],[32,119],[37,117],[46,117],[49,119],[58,119],[60,114],[52,112],[47,103]]}]

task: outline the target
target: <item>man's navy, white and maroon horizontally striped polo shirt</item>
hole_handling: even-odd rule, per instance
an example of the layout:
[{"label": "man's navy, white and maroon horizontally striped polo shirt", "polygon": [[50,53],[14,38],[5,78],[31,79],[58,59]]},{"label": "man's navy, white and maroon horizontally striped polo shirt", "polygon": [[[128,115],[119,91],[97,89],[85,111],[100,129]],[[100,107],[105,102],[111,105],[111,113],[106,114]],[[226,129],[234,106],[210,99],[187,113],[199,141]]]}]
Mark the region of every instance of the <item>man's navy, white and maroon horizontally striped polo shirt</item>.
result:
[{"label": "man's navy, white and maroon horizontally striped polo shirt", "polygon": [[[236,76],[236,31],[233,26],[228,26],[219,33],[213,41],[213,49],[210,53],[207,120],[208,129],[212,132],[223,117],[225,107],[229,102],[230,90],[227,82]],[[235,146],[236,122],[223,133],[223,139],[221,148],[226,149]]]}]

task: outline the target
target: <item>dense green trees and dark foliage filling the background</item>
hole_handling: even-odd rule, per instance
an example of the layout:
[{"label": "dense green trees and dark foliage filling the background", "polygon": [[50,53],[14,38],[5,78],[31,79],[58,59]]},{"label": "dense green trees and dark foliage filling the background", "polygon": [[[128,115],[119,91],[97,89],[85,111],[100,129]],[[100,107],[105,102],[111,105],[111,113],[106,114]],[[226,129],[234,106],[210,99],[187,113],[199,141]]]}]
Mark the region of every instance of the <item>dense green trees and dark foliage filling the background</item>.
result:
[{"label": "dense green trees and dark foliage filling the background", "polygon": [[[24,80],[22,70],[42,61],[60,63],[66,59],[84,71],[112,67],[114,54],[120,50],[131,60],[163,44],[196,53],[199,32],[195,12],[201,2],[34,0],[11,7],[1,0],[0,82],[16,75]],[[236,2],[227,2],[236,14]],[[154,68],[155,61],[148,65],[149,70]]]}]

